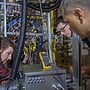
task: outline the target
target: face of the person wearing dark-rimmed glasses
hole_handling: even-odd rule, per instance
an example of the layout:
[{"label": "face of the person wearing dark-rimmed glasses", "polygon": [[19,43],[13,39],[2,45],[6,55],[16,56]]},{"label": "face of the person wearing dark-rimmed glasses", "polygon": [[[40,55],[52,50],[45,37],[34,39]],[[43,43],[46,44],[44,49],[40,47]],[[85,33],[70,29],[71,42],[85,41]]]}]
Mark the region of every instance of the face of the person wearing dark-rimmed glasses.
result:
[{"label": "face of the person wearing dark-rimmed glasses", "polygon": [[60,32],[60,34],[62,34],[62,35],[64,35],[64,36],[67,36],[67,37],[70,37],[71,36],[71,30],[70,30],[70,27],[69,27],[69,25],[67,24],[66,25],[66,23],[62,23],[62,22],[60,22],[58,25],[57,25],[57,32],[59,33]]}]

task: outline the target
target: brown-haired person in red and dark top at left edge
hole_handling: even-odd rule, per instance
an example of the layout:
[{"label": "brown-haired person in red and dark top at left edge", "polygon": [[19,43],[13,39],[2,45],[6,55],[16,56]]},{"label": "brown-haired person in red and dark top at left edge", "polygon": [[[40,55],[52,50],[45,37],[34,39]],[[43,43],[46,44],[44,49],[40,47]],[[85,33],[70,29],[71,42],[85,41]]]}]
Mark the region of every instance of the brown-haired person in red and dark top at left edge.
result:
[{"label": "brown-haired person in red and dark top at left edge", "polygon": [[15,45],[11,40],[5,37],[0,37],[0,83],[10,77],[11,69],[4,66],[4,62],[12,59],[15,50]]}]

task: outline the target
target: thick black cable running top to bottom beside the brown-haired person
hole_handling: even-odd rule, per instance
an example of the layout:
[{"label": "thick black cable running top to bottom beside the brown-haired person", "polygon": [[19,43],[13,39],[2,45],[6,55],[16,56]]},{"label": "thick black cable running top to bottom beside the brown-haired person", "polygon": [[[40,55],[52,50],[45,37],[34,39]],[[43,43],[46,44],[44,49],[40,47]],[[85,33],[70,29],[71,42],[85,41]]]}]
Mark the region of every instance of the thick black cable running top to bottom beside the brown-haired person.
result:
[{"label": "thick black cable running top to bottom beside the brown-haired person", "polygon": [[7,83],[7,87],[6,87],[7,90],[9,89],[11,82],[17,77],[17,72],[19,69],[21,54],[22,54],[23,45],[24,45],[24,38],[25,38],[25,33],[26,33],[26,11],[27,11],[26,5],[27,5],[27,0],[22,0],[22,13],[21,13],[22,18],[21,18],[20,37],[19,37],[16,54],[15,54],[13,68],[11,70],[10,79],[9,79],[9,82]]}]

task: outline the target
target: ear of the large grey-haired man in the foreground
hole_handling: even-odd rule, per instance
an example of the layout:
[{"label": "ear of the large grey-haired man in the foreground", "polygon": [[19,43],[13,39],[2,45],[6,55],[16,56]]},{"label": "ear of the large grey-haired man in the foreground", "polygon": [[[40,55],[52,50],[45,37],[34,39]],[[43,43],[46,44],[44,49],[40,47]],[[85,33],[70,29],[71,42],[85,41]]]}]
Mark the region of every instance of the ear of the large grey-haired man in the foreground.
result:
[{"label": "ear of the large grey-haired man in the foreground", "polygon": [[83,23],[84,12],[80,8],[75,8],[74,15],[79,19],[80,23]]}]

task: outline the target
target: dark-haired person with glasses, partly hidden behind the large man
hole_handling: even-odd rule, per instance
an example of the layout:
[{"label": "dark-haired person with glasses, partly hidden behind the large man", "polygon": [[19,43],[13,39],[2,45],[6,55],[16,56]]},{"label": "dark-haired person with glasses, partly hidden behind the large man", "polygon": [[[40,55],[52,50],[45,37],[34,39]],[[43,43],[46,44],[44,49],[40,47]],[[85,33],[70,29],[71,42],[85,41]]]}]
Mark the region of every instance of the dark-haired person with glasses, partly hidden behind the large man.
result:
[{"label": "dark-haired person with glasses, partly hidden behind the large man", "polygon": [[56,32],[67,37],[71,37],[70,26],[64,21],[63,16],[59,16],[56,20]]}]

